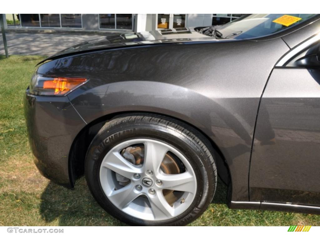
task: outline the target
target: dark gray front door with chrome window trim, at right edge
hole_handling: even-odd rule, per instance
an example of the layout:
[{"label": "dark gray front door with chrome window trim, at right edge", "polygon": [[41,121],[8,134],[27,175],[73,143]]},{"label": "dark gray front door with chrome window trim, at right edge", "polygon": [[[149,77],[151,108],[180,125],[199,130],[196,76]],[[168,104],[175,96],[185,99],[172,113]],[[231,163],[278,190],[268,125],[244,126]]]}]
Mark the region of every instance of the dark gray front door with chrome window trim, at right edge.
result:
[{"label": "dark gray front door with chrome window trim, at right edge", "polygon": [[320,35],[288,52],[262,95],[251,201],[320,205]]}]

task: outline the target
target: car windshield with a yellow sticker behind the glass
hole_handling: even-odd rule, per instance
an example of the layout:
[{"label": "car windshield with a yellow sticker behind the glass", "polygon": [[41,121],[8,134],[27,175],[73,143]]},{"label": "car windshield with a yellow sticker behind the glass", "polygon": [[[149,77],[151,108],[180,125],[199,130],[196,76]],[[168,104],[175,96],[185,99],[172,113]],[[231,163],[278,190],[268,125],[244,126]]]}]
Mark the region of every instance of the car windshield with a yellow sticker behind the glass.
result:
[{"label": "car windshield with a yellow sticker behind the glass", "polygon": [[316,14],[246,14],[215,29],[222,38],[254,38],[267,36],[295,26]]}]

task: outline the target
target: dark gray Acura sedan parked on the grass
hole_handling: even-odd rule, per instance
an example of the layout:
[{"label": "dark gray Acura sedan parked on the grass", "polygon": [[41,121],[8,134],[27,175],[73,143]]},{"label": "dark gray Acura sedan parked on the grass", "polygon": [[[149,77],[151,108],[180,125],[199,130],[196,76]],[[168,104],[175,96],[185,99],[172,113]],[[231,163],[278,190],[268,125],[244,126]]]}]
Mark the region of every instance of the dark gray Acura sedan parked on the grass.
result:
[{"label": "dark gray Acura sedan parked on the grass", "polygon": [[230,208],[320,213],[319,32],[247,14],[58,52],[25,95],[36,166],[131,225],[195,220],[218,175]]}]

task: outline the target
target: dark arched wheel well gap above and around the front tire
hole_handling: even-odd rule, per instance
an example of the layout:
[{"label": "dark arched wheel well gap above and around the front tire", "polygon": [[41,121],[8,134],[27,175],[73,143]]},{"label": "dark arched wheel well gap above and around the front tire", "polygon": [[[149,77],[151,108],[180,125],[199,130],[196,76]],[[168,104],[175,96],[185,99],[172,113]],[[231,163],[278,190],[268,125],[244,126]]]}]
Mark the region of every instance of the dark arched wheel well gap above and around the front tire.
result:
[{"label": "dark arched wheel well gap above and around the front tire", "polygon": [[215,159],[215,163],[217,166],[217,171],[218,175],[220,176],[221,180],[227,184],[229,191],[228,191],[228,198],[231,193],[231,176],[230,176],[230,171],[228,168],[228,165],[226,164],[226,160],[221,153],[220,149],[218,146],[200,129],[196,128],[195,126],[189,124],[188,122],[185,122],[179,118],[175,118],[172,116],[167,116],[164,114],[159,114],[159,113],[153,113],[153,112],[117,112],[113,114],[109,114],[103,117],[100,117],[91,123],[87,124],[76,136],[70,150],[69,154],[69,176],[70,176],[70,182],[74,186],[75,180],[82,176],[84,174],[84,161],[85,161],[85,156],[87,153],[87,150],[89,148],[89,145],[91,141],[93,140],[94,136],[99,132],[99,130],[102,128],[102,126],[111,120],[112,118],[118,116],[118,115],[123,115],[123,114],[156,114],[158,116],[164,116],[164,117],[169,117],[172,119],[179,120],[180,122],[183,122],[187,125],[189,125],[191,128],[196,129],[198,132],[200,132],[203,137],[209,141],[209,143],[212,146],[213,152],[212,155]]}]

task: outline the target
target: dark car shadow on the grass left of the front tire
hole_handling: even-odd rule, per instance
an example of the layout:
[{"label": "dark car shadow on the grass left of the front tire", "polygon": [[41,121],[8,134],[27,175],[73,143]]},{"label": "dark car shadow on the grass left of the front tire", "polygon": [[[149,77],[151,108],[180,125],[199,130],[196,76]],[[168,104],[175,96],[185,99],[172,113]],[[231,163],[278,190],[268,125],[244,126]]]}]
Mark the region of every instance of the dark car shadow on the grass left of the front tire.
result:
[{"label": "dark car shadow on the grass left of the front tire", "polygon": [[42,193],[41,200],[40,214],[48,223],[58,220],[59,226],[124,225],[96,203],[84,177],[77,180],[73,190],[50,182]]}]

